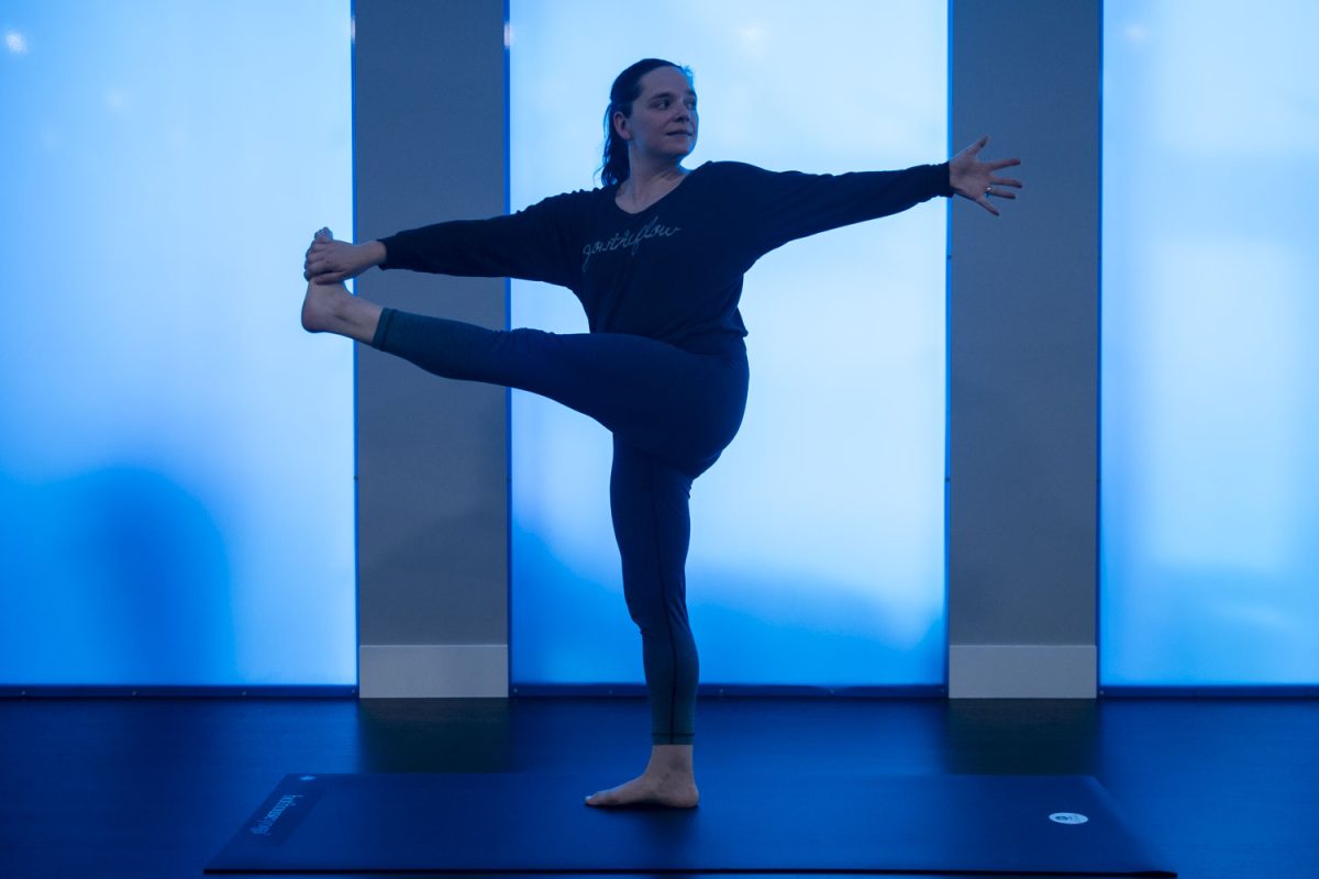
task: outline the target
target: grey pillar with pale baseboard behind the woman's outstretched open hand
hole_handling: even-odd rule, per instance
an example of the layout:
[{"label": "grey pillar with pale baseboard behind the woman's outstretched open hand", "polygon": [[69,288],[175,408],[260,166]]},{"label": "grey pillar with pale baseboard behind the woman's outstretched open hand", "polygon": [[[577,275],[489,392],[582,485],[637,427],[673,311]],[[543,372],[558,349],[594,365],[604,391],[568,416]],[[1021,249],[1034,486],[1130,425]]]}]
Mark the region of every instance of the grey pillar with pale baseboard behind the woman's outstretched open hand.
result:
[{"label": "grey pillar with pale baseboard behind the woman's outstretched open hand", "polygon": [[948,693],[1093,697],[1099,0],[954,0],[954,149],[1026,188],[952,207]]}]

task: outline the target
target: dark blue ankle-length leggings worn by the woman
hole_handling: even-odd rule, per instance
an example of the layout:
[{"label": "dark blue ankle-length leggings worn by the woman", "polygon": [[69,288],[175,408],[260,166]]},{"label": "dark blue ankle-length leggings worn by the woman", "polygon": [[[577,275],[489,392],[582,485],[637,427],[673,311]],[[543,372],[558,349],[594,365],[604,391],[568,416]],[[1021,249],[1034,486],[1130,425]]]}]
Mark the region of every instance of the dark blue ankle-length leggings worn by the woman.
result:
[{"label": "dark blue ankle-length leggings worn by the woman", "polygon": [[609,509],[624,597],[641,629],[652,741],[690,745],[699,664],[687,623],[687,501],[741,426],[741,339],[692,353],[644,336],[493,331],[385,308],[371,344],[437,376],[549,397],[613,434]]}]

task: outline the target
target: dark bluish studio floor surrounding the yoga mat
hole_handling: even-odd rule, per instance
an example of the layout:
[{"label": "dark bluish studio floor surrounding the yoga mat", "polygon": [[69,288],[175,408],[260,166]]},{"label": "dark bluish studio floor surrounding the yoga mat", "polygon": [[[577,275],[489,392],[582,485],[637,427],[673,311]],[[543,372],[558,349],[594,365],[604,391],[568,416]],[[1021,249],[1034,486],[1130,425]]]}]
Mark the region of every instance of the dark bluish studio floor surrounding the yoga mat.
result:
[{"label": "dark bluish studio floor surrounding the yoga mat", "polygon": [[[703,697],[703,766],[1093,775],[1187,879],[1319,876],[1319,701]],[[0,700],[0,876],[200,876],[289,772],[571,770],[649,755],[641,698]],[[566,803],[565,808],[582,808]]]}]

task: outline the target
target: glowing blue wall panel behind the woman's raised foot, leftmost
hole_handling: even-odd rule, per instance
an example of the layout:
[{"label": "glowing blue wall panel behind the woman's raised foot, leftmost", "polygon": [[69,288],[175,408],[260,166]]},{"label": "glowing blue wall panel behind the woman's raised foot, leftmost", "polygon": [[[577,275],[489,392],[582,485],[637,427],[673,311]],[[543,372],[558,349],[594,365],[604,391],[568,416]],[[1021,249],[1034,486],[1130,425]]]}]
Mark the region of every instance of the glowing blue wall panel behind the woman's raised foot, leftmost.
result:
[{"label": "glowing blue wall panel behind the woman's raised foot, leftmost", "polygon": [[347,0],[0,29],[0,683],[355,684]]}]

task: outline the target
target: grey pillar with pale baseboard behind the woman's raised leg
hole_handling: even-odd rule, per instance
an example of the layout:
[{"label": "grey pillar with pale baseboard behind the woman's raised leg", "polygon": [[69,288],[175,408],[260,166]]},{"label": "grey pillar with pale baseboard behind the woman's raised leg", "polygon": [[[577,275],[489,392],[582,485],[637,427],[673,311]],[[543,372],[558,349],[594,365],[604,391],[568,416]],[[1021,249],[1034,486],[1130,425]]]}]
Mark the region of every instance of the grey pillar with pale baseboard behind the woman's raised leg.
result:
[{"label": "grey pillar with pale baseboard behind the woman's raised leg", "polygon": [[[503,0],[357,0],[355,239],[503,213]],[[503,279],[372,270],[357,293],[506,326]],[[508,695],[506,391],[357,347],[364,697]]]}]

